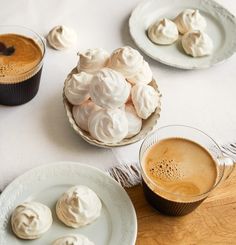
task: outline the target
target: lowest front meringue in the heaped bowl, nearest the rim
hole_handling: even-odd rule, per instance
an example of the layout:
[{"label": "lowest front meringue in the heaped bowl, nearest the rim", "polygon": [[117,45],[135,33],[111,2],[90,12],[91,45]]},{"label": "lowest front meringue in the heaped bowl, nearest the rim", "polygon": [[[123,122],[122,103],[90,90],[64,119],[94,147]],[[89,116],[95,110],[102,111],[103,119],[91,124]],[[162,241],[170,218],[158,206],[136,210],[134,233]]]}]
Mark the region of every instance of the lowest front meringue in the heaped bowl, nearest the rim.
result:
[{"label": "lowest front meringue in the heaped bowl, nearest the rim", "polygon": [[101,109],[93,112],[88,120],[93,138],[104,143],[117,143],[128,134],[128,121],[121,109]]}]

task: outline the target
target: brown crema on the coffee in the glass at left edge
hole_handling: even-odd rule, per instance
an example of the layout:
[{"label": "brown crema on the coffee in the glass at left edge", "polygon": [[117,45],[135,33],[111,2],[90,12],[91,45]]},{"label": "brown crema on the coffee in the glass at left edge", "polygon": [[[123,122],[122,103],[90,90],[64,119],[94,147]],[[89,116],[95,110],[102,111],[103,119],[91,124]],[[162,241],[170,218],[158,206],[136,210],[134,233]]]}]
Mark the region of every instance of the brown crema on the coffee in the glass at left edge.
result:
[{"label": "brown crema on the coffee in the glass at left edge", "polygon": [[[0,83],[22,82],[35,75],[43,54],[33,39],[17,34],[3,34],[0,35],[0,42],[14,48],[11,55],[0,53]],[[30,74],[24,76],[28,72]]]}]

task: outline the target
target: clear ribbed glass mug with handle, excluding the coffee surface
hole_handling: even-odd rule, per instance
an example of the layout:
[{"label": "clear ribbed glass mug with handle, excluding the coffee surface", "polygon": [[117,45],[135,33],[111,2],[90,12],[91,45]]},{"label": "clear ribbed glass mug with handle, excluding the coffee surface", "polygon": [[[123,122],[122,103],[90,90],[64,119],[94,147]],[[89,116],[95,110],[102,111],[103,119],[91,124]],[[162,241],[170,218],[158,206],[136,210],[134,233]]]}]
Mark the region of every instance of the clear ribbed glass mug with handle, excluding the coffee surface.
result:
[{"label": "clear ribbed glass mug with handle, excluding the coffee surface", "polygon": [[[168,138],[183,138],[193,141],[205,148],[216,164],[217,176],[214,185],[200,195],[189,198],[176,193],[169,193],[157,185],[145,172],[145,154],[151,146],[160,140]],[[158,129],[143,141],[139,161],[143,180],[143,191],[147,201],[158,211],[166,215],[181,216],[192,212],[204,201],[209,194],[225,179],[229,177],[234,169],[234,162],[226,157],[219,145],[206,133],[193,127],[183,125],[170,125]]]}]

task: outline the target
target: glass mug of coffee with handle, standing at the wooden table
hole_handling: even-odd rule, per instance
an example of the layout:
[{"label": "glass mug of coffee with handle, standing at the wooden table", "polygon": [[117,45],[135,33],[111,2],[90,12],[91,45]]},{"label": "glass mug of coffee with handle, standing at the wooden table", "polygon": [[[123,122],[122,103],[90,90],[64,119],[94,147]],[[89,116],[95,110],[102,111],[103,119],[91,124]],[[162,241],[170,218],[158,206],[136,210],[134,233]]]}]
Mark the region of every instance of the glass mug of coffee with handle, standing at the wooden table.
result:
[{"label": "glass mug of coffee with handle, standing at the wooden table", "polygon": [[147,201],[171,216],[193,211],[234,169],[234,162],[211,137],[181,125],[162,127],[148,136],[139,159]]}]

